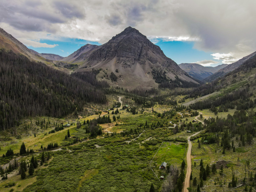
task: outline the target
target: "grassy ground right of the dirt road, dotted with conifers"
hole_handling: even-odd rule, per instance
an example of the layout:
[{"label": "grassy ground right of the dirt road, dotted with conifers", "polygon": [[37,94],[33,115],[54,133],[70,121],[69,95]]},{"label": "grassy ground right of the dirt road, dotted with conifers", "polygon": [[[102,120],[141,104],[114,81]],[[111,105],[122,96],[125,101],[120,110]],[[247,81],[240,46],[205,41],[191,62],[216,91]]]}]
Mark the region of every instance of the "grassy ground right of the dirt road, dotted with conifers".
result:
[{"label": "grassy ground right of the dirt road, dotted with conifers", "polygon": [[[200,140],[201,138],[199,138]],[[207,177],[207,180],[204,181],[204,190],[205,191],[228,191],[232,190],[233,188],[228,188],[228,183],[231,182],[232,173],[235,174],[238,180],[238,184],[242,182],[245,176],[245,165],[246,160],[250,161],[249,165],[249,172],[252,172],[254,177],[255,169],[256,169],[256,146],[255,143],[251,146],[246,145],[245,147],[238,147],[239,140],[236,138],[232,138],[234,140],[234,146],[236,147],[236,152],[233,152],[232,149],[226,150],[225,154],[222,154],[222,147],[218,146],[217,144],[202,144],[201,148],[198,148],[197,140],[192,141],[192,174],[193,177],[197,177],[197,181],[199,181],[199,172],[200,172],[200,161],[194,161],[196,159],[203,159],[204,168],[207,164],[209,164],[210,168],[212,164],[216,164],[217,166],[217,173],[210,174]],[[238,160],[239,157],[239,161]],[[196,162],[196,167],[194,166],[194,162]],[[219,162],[219,163],[218,163]],[[224,176],[219,174],[220,166],[223,165],[224,168]],[[248,179],[248,167],[246,165],[246,178]],[[220,187],[222,185],[222,187]],[[224,186],[225,185],[225,186]],[[252,185],[252,181],[248,182],[248,185]],[[192,181],[190,182],[190,186],[193,187]],[[193,187],[196,189],[196,186]],[[236,188],[236,190],[243,190],[245,186]],[[255,189],[255,188],[254,188]],[[248,189],[249,190],[249,189]]]}]

